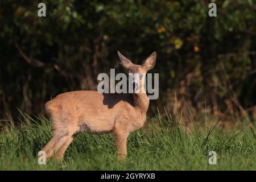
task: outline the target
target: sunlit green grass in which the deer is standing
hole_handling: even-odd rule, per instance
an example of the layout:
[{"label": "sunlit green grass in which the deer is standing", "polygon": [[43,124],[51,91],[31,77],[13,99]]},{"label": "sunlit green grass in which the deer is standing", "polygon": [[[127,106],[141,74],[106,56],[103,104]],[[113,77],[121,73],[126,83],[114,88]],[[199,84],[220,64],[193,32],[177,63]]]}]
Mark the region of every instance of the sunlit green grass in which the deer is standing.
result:
[{"label": "sunlit green grass in which the deer is standing", "polygon": [[[81,133],[63,162],[39,165],[38,151],[51,138],[50,122],[37,118],[19,129],[11,126],[9,133],[0,133],[0,170],[256,170],[255,123],[232,131],[196,126],[185,134],[183,126],[158,118],[129,136],[128,156],[121,164],[113,134]],[[209,151],[216,151],[216,165],[208,163]]]}]

